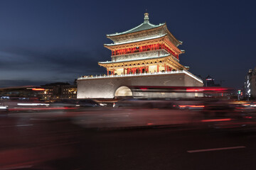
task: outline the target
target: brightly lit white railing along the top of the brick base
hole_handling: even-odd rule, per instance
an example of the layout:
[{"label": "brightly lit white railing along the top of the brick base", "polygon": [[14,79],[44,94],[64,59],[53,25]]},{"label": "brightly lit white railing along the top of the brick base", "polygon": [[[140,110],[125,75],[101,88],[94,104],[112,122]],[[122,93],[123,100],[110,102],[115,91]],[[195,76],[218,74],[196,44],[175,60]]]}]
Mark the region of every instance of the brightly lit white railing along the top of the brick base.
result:
[{"label": "brightly lit white railing along the top of the brick base", "polygon": [[188,72],[186,70],[178,70],[178,71],[171,71],[171,72],[154,72],[154,73],[138,73],[138,74],[120,74],[120,75],[96,75],[96,76],[82,76],[78,77],[78,80],[81,79],[106,79],[106,78],[112,78],[112,77],[138,77],[138,76],[151,76],[151,75],[162,75],[162,74],[187,74],[190,77],[193,77],[194,79],[200,81],[203,83],[203,81],[196,77],[195,75],[191,74],[191,72]]}]

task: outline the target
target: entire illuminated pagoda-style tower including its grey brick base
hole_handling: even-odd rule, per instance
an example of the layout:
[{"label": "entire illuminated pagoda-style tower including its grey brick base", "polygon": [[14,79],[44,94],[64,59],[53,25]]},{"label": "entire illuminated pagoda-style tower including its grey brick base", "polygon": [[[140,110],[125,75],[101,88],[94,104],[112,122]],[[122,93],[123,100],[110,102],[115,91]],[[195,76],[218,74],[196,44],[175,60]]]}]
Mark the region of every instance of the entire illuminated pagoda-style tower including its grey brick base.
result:
[{"label": "entire illuminated pagoda-style tower including its grey brick base", "polygon": [[[104,46],[111,50],[111,61],[98,62],[107,69],[107,74],[78,78],[78,98],[115,98],[137,96],[132,86],[203,86],[203,81],[188,72],[188,67],[179,63],[177,40],[166,23],[149,23],[149,13],[144,13],[144,22],[122,33],[107,35],[113,41]],[[144,96],[146,94],[139,94]],[[144,97],[180,98],[198,94],[160,93]]]}]

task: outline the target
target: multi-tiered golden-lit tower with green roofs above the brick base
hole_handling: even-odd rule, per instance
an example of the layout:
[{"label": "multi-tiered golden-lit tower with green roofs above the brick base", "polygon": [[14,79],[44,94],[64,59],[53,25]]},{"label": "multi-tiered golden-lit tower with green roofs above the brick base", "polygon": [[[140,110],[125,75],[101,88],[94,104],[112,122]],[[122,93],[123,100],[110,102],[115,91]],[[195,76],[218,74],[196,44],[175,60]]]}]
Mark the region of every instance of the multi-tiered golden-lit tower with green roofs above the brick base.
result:
[{"label": "multi-tiered golden-lit tower with green roofs above the brick base", "polygon": [[149,23],[149,13],[144,13],[144,23],[124,31],[107,35],[114,43],[105,44],[112,51],[112,61],[99,62],[107,69],[107,75],[139,74],[187,70],[179,63],[177,40],[166,27],[166,23]]}]

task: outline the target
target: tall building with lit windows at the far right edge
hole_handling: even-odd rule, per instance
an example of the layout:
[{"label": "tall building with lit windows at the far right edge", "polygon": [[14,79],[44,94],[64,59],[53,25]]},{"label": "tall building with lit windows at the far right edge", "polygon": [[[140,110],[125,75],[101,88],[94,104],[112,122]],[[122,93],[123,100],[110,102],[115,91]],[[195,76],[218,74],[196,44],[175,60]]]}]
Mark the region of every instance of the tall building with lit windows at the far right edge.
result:
[{"label": "tall building with lit windows at the far right edge", "polygon": [[247,72],[243,90],[245,98],[256,98],[256,67]]}]

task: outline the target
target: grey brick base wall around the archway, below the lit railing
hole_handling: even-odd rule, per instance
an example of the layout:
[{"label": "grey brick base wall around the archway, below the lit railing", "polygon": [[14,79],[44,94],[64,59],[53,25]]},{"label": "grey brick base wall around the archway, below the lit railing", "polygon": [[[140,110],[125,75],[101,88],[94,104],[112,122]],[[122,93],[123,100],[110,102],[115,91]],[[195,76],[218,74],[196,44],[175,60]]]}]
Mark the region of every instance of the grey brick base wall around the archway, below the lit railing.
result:
[{"label": "grey brick base wall around the archway, below the lit railing", "polygon": [[[102,79],[79,79],[78,98],[114,98],[120,86],[203,86],[203,84],[186,74],[164,74],[134,77],[108,77]],[[195,94],[161,93],[133,94],[147,97],[195,97]]]}]

